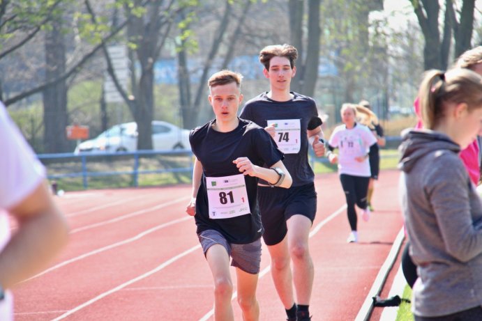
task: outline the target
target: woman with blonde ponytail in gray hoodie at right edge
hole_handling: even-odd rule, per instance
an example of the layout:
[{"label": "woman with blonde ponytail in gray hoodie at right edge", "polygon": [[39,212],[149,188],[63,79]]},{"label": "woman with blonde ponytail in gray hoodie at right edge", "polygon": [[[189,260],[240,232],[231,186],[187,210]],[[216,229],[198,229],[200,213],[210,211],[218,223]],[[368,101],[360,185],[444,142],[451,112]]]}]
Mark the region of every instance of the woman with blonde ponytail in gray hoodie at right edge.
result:
[{"label": "woman with blonde ponytail in gray hoodie at right edge", "polygon": [[461,149],[482,134],[482,77],[425,73],[419,90],[425,130],[405,134],[399,168],[402,211],[419,278],[416,321],[482,320],[482,203]]}]

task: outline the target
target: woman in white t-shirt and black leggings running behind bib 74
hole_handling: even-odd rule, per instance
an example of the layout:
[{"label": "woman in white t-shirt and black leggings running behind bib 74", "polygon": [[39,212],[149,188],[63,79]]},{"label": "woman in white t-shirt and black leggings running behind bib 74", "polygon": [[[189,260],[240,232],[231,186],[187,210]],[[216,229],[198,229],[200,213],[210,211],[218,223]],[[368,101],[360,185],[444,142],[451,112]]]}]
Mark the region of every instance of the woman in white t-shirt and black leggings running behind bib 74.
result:
[{"label": "woman in white t-shirt and black leggings running behind bib 74", "polygon": [[[364,221],[370,219],[367,207],[368,182],[370,181],[370,162],[368,151],[377,139],[368,127],[356,123],[356,107],[354,104],[343,104],[341,118],[344,125],[335,128],[329,140],[328,157],[331,164],[338,162],[340,182],[347,198],[347,216],[352,232],[347,242],[358,242],[356,229],[357,217],[355,205],[362,210]],[[338,148],[338,155],[333,150]]]}]

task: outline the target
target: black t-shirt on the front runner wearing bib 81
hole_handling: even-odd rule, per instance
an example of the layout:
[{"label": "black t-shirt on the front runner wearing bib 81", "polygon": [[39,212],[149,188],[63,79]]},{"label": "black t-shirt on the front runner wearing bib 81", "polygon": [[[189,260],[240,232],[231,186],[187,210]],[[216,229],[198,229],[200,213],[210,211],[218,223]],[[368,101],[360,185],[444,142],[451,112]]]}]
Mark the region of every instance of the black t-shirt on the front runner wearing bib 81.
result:
[{"label": "black t-shirt on the front runner wearing bib 81", "polygon": [[239,125],[231,132],[213,130],[213,123],[191,130],[191,149],[202,164],[202,182],[197,191],[195,221],[197,233],[204,230],[218,230],[226,240],[234,244],[247,244],[261,237],[263,228],[257,205],[258,178],[244,176],[251,214],[227,219],[209,217],[209,200],[206,189],[207,177],[239,175],[233,160],[248,157],[257,166],[271,167],[283,159],[283,152],[276,147],[271,136],[248,120],[239,119]]}]

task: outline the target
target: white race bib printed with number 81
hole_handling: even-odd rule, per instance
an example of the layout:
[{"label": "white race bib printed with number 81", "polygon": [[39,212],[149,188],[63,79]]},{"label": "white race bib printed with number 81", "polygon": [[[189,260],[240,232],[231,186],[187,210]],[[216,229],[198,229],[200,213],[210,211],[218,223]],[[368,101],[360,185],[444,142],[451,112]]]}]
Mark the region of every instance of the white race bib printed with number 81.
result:
[{"label": "white race bib printed with number 81", "polygon": [[250,214],[244,175],[206,177],[209,218],[229,219]]}]

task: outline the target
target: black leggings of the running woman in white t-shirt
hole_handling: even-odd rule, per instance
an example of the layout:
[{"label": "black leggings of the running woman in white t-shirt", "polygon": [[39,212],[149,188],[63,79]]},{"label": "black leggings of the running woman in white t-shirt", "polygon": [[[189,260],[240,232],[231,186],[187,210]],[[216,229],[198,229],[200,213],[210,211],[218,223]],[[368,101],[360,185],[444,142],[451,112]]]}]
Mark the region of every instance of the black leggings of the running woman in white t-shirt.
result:
[{"label": "black leggings of the running woman in white t-shirt", "polygon": [[356,210],[355,204],[362,210],[366,209],[366,194],[370,177],[353,176],[340,174],[341,186],[347,198],[347,214],[349,226],[356,230]]}]

